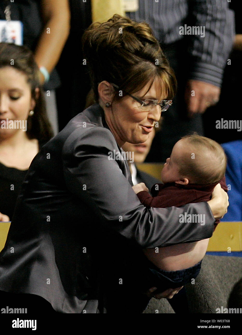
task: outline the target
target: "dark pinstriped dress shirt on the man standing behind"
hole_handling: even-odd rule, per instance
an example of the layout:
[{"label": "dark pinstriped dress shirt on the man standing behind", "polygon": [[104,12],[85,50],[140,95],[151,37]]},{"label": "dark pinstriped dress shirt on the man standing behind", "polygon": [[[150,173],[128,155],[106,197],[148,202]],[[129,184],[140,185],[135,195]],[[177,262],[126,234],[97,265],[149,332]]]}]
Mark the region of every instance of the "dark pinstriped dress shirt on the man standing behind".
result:
[{"label": "dark pinstriped dress shirt on the man standing behind", "polygon": [[162,44],[181,40],[180,27],[205,27],[205,36],[190,35],[192,57],[189,79],[221,87],[223,71],[233,46],[234,12],[227,0],[139,0],[136,12],[126,12],[135,21],[146,21]]}]

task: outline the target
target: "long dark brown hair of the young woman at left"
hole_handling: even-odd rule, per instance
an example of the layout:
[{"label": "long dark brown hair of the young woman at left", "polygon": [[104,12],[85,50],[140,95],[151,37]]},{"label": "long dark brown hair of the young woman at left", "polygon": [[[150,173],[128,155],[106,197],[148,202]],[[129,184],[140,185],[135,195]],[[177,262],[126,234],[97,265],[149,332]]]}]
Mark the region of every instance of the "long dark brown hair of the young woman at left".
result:
[{"label": "long dark brown hair of the young woman at left", "polygon": [[[0,43],[0,68],[5,66],[11,66],[26,75],[32,98],[36,102],[34,114],[27,119],[26,134],[29,139],[36,138],[39,143],[45,144],[53,137],[53,131],[47,118],[44,95],[39,81],[39,68],[32,51],[24,46]],[[38,98],[35,94],[37,87],[40,89]]]}]

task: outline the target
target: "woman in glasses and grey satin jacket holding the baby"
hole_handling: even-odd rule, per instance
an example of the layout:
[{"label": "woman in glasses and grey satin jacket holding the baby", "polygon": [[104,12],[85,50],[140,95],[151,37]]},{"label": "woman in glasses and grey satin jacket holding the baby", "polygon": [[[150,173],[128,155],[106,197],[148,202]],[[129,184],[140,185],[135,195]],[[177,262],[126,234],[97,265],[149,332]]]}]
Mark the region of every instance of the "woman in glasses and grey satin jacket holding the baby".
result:
[{"label": "woman in glasses and grey satin jacket holding the baby", "polygon": [[[208,202],[140,203],[127,162],[110,152],[147,140],[176,79],[146,23],[116,14],[93,23],[82,42],[97,103],[34,158],[1,253],[0,289],[37,294],[62,313],[141,313],[151,296],[180,289],[142,290],[142,248],[211,237],[228,197],[218,186]],[[180,223],[184,212],[205,214],[205,225]]]}]

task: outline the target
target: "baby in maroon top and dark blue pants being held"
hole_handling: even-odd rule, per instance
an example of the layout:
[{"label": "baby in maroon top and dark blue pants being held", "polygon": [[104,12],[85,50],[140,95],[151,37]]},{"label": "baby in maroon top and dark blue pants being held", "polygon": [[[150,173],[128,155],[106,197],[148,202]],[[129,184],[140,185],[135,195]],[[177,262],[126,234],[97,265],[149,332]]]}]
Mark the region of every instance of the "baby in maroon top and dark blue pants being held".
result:
[{"label": "baby in maroon top and dark blue pants being held", "polygon": [[[180,207],[209,201],[218,183],[228,191],[224,177],[226,163],[224,150],[217,142],[197,134],[187,135],[174,145],[171,157],[166,160],[161,173],[164,184],[153,185],[152,196],[146,192],[143,183],[133,186],[133,189],[141,203],[148,208]],[[180,222],[192,222],[186,219],[180,218],[183,220]],[[195,222],[205,224],[202,217],[196,216]],[[215,228],[218,223],[219,220],[216,220]],[[150,284],[158,287],[156,293],[191,282],[200,271],[208,241],[144,249],[149,269],[155,275],[150,277]]]}]

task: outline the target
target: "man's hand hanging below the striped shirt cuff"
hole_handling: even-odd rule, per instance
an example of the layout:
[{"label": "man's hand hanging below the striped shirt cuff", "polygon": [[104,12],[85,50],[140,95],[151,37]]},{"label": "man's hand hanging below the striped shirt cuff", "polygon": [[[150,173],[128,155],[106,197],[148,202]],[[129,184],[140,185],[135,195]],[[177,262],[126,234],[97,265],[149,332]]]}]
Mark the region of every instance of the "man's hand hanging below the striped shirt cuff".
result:
[{"label": "man's hand hanging below the striped shirt cuff", "polygon": [[[194,92],[192,92],[194,91]],[[219,101],[221,89],[215,85],[200,80],[188,80],[185,89],[185,102],[189,117],[205,110]]]}]

